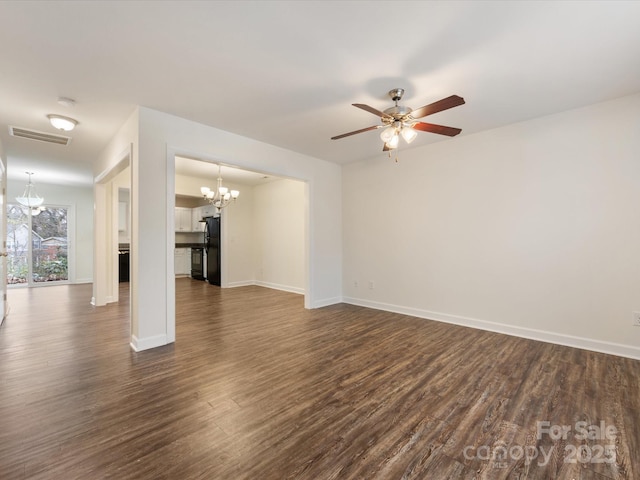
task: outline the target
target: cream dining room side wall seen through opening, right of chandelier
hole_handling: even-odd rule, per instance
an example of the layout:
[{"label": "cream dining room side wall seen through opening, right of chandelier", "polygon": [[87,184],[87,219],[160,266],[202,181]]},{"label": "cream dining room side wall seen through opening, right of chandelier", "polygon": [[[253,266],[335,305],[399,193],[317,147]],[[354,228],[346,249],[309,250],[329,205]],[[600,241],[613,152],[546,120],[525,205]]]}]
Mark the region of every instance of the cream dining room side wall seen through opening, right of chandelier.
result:
[{"label": "cream dining room side wall seen through opening, right of chandelier", "polygon": [[304,293],[305,184],[269,182],[254,197],[257,284]]}]

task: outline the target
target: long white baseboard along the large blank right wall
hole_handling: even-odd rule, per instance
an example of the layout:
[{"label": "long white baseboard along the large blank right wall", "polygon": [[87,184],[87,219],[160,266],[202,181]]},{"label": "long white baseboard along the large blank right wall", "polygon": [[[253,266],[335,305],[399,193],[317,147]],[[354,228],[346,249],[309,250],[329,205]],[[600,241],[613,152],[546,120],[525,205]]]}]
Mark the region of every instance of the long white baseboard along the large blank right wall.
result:
[{"label": "long white baseboard along the large blank right wall", "polygon": [[640,348],[633,345],[623,345],[620,343],[606,342],[591,338],[576,337],[573,335],[549,332],[546,330],[537,330],[534,328],[517,327],[514,325],[506,325],[504,323],[479,320],[477,318],[462,317],[441,312],[432,312],[429,310],[404,307],[382,302],[372,302],[370,300],[363,300],[360,298],[344,297],[342,301],[351,305],[374,308],[376,310],[402,313],[404,315],[411,315],[413,317],[424,318],[427,320],[436,320],[438,322],[450,323],[463,327],[477,328],[480,330],[512,335],[514,337],[528,338],[541,342],[554,343],[567,347],[581,348],[583,350],[591,350],[594,352],[607,353],[610,355],[617,355],[619,357],[627,357],[633,358],[635,360],[640,360]]}]

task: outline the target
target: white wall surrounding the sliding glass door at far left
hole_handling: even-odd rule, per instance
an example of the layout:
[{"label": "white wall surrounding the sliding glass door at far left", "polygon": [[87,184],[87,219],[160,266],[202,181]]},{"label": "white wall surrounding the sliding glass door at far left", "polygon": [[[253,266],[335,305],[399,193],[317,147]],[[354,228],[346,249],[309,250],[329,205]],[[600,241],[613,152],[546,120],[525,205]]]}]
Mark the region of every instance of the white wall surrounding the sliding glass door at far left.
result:
[{"label": "white wall surrounding the sliding glass door at far left", "polygon": [[[15,198],[22,195],[27,184],[24,181],[7,180],[7,202],[16,203]],[[69,206],[68,229],[69,242],[69,281],[88,283],[93,279],[93,188],[69,187],[41,183],[34,176],[38,195],[44,198],[45,205]]]}]

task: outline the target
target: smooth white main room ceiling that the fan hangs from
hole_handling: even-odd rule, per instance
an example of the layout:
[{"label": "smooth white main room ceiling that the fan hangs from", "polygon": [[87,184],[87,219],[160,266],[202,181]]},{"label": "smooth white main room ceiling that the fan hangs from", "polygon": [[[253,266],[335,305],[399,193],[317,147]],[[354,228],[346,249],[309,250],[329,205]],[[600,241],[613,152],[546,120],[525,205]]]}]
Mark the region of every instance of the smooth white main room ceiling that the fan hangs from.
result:
[{"label": "smooth white main room ceiling that the fan hangs from", "polygon": [[[635,1],[2,1],[0,141],[10,177],[91,183],[135,105],[336,163],[382,155],[352,107],[457,94],[425,118],[469,135],[640,92]],[[68,108],[59,96],[77,101]],[[55,133],[67,147],[9,137]],[[411,147],[455,141],[420,133]]]}]

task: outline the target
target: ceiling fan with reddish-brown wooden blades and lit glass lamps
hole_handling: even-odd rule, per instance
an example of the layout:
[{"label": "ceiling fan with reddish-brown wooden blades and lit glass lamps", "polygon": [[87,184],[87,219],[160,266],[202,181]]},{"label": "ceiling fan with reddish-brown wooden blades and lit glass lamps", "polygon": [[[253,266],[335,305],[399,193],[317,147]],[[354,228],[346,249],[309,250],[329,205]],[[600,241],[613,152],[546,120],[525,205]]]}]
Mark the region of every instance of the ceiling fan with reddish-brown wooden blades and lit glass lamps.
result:
[{"label": "ceiling fan with reddish-brown wooden blades and lit glass lamps", "polygon": [[438,100],[437,102],[425,105],[424,107],[420,107],[417,110],[412,110],[409,107],[398,105],[398,102],[402,98],[402,95],[404,95],[403,88],[394,88],[393,90],[389,90],[389,96],[391,97],[391,100],[393,100],[396,104],[394,107],[387,108],[383,112],[370,107],[369,105],[365,105],[362,103],[353,103],[352,105],[354,107],[361,108],[362,110],[366,110],[367,112],[373,113],[374,115],[380,117],[380,119],[382,120],[382,125],[374,125],[371,127],[362,128],[360,130],[355,130],[353,132],[343,133],[342,135],[331,137],[331,140],[339,140],[341,138],[355,135],[357,133],[384,128],[384,130],[380,134],[380,138],[384,142],[382,150],[386,152],[388,150],[397,148],[398,142],[400,141],[400,136],[402,136],[402,138],[404,138],[407,143],[411,143],[418,135],[418,130],[422,132],[437,133],[439,135],[447,135],[449,137],[454,137],[462,131],[460,128],[445,127],[443,125],[435,125],[433,123],[419,122],[416,119],[426,117],[427,115],[432,115],[449,108],[457,107],[459,105],[463,105],[464,98],[459,97],[458,95],[451,95],[450,97],[443,98],[442,100]]}]

